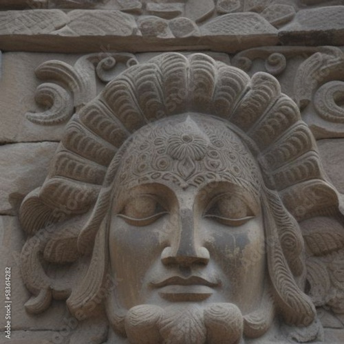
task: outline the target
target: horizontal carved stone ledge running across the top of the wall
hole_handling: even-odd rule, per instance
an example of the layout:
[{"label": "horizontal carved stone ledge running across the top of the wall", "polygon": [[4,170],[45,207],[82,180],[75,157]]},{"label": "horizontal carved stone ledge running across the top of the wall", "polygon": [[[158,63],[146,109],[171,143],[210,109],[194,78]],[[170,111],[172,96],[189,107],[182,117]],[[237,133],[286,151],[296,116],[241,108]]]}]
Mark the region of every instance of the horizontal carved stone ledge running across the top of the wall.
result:
[{"label": "horizontal carved stone ledge running across the top of the wall", "polygon": [[[128,52],[237,52],[278,43],[344,44],[344,6],[338,1],[47,0],[26,5],[0,11],[0,49],[95,52],[109,45]],[[46,35],[56,38],[54,45]]]}]

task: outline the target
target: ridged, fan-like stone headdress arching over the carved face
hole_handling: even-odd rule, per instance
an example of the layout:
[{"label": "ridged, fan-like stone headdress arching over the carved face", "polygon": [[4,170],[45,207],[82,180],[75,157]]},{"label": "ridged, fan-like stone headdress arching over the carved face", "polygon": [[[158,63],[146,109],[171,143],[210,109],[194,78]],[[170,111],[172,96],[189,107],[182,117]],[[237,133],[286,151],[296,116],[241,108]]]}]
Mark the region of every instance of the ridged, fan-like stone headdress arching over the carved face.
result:
[{"label": "ridged, fan-like stone headdress arching over the carved face", "polygon": [[[150,122],[186,112],[222,118],[228,127],[242,133],[259,162],[267,188],[281,198],[297,221],[338,212],[338,196],[325,180],[312,133],[301,120],[297,105],[281,94],[274,77],[259,72],[250,78],[240,69],[204,54],[166,53],[127,69],[72,117],[43,186],[25,197],[21,205],[25,231],[34,235],[47,224],[86,213],[95,202],[98,208],[104,208],[109,202],[107,189],[120,163],[120,154],[116,153],[127,138]],[[76,230],[69,240],[52,234],[44,257],[73,261],[78,255],[92,252],[102,216],[94,212],[85,228]],[[293,240],[288,246],[290,237],[286,233],[279,233],[284,236],[284,254],[288,256],[289,247],[300,255],[302,247],[292,248]],[[62,245],[74,253],[56,258]],[[23,264],[29,271],[30,264]],[[291,270],[297,270],[292,259],[288,264]],[[54,292],[57,297],[69,296],[70,290],[52,288],[49,279],[45,279],[43,288],[44,283],[32,279],[29,272],[23,275],[37,296],[31,303],[32,312],[47,307],[51,289],[53,296]],[[288,290],[281,299],[281,303],[290,301]],[[290,322],[299,320],[296,316]]]}]

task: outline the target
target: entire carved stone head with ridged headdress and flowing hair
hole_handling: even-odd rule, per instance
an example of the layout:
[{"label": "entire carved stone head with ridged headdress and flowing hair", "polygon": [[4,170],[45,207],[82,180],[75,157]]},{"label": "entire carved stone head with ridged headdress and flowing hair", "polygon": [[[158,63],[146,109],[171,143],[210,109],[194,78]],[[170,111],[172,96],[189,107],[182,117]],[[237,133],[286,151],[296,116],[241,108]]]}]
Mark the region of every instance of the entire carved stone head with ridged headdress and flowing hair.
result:
[{"label": "entire carved stone head with ridged headdress and flowing hair", "polygon": [[344,312],[340,208],[273,76],[161,54],[78,109],[23,200],[25,307],[105,312],[107,343],[323,342],[317,310]]}]

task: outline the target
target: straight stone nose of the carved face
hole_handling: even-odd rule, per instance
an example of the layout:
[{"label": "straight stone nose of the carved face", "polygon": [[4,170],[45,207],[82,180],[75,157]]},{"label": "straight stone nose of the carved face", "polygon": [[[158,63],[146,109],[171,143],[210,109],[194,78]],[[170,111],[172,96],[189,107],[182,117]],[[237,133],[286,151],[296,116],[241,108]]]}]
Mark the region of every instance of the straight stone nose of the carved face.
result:
[{"label": "straight stone nose of the carved face", "polygon": [[192,209],[181,209],[178,228],[172,229],[171,245],[162,250],[161,260],[163,264],[177,264],[180,266],[208,264],[210,259],[209,251],[197,242],[197,234],[199,235],[199,233],[196,233]]}]

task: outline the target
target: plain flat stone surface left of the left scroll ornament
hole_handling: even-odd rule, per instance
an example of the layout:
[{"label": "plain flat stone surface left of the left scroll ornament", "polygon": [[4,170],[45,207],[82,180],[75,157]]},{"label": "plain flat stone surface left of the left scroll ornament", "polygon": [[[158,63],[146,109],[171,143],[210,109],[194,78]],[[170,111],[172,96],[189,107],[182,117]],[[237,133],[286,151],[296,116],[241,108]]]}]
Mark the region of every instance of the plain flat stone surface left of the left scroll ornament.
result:
[{"label": "plain flat stone surface left of the left scroll ornament", "polygon": [[34,100],[36,87],[41,83],[34,76],[34,69],[41,63],[55,58],[73,65],[77,57],[76,55],[17,52],[8,52],[2,55],[0,79],[1,143],[58,141],[61,139],[64,124],[42,127],[30,122],[25,117],[25,113],[42,110]]}]

